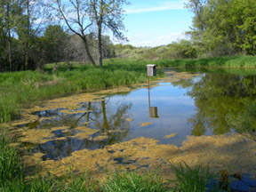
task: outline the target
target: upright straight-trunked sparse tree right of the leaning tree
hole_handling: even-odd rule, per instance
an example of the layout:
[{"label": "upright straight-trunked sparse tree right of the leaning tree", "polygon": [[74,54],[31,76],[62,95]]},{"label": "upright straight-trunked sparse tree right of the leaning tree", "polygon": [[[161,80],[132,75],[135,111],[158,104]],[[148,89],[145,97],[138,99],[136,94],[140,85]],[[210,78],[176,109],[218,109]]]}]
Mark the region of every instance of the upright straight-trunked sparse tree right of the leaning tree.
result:
[{"label": "upright straight-trunked sparse tree right of the leaning tree", "polygon": [[126,0],[90,0],[91,19],[97,27],[99,63],[102,67],[102,31],[104,28],[110,29],[118,39],[124,39],[122,30],[123,5],[128,4]]}]

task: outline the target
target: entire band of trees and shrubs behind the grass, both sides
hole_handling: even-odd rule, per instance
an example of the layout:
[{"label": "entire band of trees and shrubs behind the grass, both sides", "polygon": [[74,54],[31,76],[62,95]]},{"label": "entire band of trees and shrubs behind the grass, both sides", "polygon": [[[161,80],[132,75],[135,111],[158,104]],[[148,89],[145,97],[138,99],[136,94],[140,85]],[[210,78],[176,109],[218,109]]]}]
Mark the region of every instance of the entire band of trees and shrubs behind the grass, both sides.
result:
[{"label": "entire band of trees and shrubs behind the grass, both sides", "polygon": [[[45,3],[48,2],[48,3]],[[108,58],[199,59],[256,54],[255,0],[188,0],[194,13],[181,39],[157,47],[113,44],[125,40],[126,0],[0,0],[0,71],[40,69],[46,63],[100,64]],[[61,24],[61,25],[60,25]]]}]

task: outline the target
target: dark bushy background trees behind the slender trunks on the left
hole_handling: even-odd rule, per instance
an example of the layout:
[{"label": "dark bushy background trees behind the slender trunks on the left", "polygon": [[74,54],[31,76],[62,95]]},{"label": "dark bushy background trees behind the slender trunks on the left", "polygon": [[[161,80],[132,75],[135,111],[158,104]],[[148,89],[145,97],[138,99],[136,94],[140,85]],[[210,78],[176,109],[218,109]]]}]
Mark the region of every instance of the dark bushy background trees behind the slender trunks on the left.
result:
[{"label": "dark bushy background trees behind the slender trunks on the left", "polygon": [[[12,37],[12,65],[10,65],[8,49],[5,52],[2,49],[0,71],[40,70],[46,63],[58,64],[63,61],[77,61],[82,64],[90,62],[84,51],[82,39],[79,36],[68,34],[59,25],[48,26],[43,36],[33,36],[30,40],[32,42],[29,44],[28,53],[26,53],[26,48],[24,48],[26,44],[23,44],[20,39]],[[99,60],[98,40],[92,35],[87,36],[87,40],[89,44],[92,44],[92,57],[94,60]],[[3,48],[1,45],[4,44],[0,44],[0,51]],[[102,55],[104,59],[115,57],[114,45],[109,36],[102,36]]]}]

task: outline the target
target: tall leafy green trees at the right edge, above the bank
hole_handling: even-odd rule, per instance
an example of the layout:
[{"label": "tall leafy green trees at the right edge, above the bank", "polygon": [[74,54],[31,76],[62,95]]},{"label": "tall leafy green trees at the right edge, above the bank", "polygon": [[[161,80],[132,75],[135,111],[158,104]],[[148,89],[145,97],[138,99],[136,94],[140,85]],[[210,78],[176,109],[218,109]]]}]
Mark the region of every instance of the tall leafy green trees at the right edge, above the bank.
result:
[{"label": "tall leafy green trees at the right edge, above the bank", "polygon": [[255,0],[189,0],[191,35],[204,56],[256,54]]}]

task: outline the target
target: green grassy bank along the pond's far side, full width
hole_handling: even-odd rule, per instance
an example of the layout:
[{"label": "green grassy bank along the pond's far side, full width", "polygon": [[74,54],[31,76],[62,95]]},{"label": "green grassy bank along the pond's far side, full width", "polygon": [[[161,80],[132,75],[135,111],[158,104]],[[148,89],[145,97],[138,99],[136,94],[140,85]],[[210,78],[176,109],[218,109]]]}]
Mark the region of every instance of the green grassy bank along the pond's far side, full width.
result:
[{"label": "green grassy bank along the pond's far side, full width", "polygon": [[[44,71],[21,71],[0,74],[0,117],[10,121],[31,102],[51,99],[72,92],[93,91],[147,82],[148,63],[158,67],[181,68],[254,68],[256,57],[235,56],[200,60],[111,59],[104,67],[49,64]],[[164,76],[158,70],[157,76]]]}]

